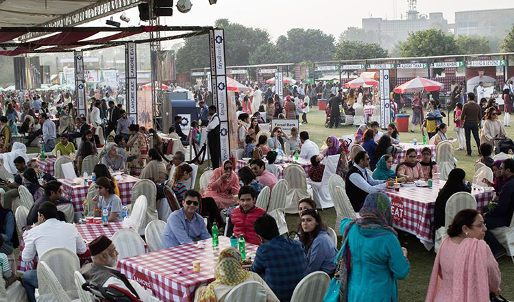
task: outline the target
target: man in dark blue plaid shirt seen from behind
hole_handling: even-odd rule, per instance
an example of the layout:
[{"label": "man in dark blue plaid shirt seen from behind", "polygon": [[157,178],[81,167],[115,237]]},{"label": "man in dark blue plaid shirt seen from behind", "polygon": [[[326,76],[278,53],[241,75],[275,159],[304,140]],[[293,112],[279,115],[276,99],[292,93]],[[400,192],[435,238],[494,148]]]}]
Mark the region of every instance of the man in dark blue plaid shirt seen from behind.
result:
[{"label": "man in dark blue plaid shirt seen from behind", "polygon": [[275,218],[264,214],[254,223],[262,242],[257,249],[252,272],[258,273],[280,301],[289,301],[295,287],[307,275],[302,243],[280,236]]}]

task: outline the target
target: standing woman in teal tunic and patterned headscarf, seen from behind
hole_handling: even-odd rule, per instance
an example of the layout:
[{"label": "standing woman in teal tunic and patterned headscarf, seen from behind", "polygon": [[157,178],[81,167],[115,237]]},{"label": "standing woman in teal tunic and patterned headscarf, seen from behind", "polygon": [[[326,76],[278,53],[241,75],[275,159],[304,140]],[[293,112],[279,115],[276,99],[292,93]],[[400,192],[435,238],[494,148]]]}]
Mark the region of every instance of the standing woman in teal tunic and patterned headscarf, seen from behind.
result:
[{"label": "standing woman in teal tunic and patterned headscarf, seen from behind", "polygon": [[410,265],[393,229],[391,201],[382,192],[369,194],[359,214],[341,222],[339,301],[397,301],[397,280],[407,277]]}]

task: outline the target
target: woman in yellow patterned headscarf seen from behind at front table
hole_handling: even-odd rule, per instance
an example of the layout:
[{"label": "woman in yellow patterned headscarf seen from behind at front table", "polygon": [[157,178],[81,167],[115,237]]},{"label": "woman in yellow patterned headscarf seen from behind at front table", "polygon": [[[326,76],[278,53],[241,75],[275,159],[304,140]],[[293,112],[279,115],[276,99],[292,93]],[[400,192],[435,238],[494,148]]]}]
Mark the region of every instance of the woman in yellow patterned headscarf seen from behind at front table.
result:
[{"label": "woman in yellow patterned headscarf seen from behind at front table", "polygon": [[196,290],[195,302],[223,302],[232,288],[245,281],[257,281],[266,290],[267,302],[279,302],[277,296],[259,275],[243,270],[242,261],[241,254],[233,247],[221,251],[215,267],[216,280]]}]

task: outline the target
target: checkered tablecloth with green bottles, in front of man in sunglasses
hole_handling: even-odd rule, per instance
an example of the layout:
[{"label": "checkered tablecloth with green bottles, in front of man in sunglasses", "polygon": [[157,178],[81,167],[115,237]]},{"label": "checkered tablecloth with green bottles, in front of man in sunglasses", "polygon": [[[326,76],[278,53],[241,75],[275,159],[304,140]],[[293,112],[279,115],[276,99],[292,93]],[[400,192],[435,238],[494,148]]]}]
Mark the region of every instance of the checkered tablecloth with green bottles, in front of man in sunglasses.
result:
[{"label": "checkered tablecloth with green bottles, in front of man in sunglasses", "polygon": [[[193,301],[198,286],[215,280],[219,252],[230,247],[230,239],[224,236],[219,237],[217,249],[212,248],[212,239],[203,241],[204,249],[197,249],[197,242],[183,244],[121,259],[118,267],[127,278],[149,288],[162,301]],[[255,255],[257,248],[257,245],[247,242],[247,255]],[[198,273],[193,273],[193,260],[201,261]]]}]

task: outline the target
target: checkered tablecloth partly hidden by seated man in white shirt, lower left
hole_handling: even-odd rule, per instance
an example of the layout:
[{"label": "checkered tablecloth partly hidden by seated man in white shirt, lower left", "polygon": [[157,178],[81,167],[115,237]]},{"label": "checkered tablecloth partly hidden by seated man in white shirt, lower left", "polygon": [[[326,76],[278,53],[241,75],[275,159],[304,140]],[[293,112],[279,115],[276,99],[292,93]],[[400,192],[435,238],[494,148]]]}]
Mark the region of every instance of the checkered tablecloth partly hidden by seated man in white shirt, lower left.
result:
[{"label": "checkered tablecloth partly hidden by seated man in white shirt, lower left", "polygon": [[[92,223],[84,223],[84,224],[75,224],[75,227],[77,227],[77,230],[79,231],[79,234],[82,236],[82,239],[84,239],[84,242],[88,243],[93,241],[95,238],[101,235],[105,235],[108,238],[111,238],[114,233],[119,231],[120,229],[123,229],[123,223],[109,223],[107,227],[104,227],[100,224],[92,224]],[[23,253],[23,249],[25,248],[25,234],[27,234],[28,231],[23,232],[23,236],[21,236],[21,242],[20,242],[20,253],[18,255],[18,273],[25,273],[27,270],[34,270],[38,266],[38,256],[36,255],[36,258],[32,260],[31,262],[24,262],[21,260],[21,253]],[[87,262],[90,261],[91,254],[89,251],[86,251],[86,253],[79,255],[77,254],[80,260],[81,266]]]}]

